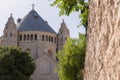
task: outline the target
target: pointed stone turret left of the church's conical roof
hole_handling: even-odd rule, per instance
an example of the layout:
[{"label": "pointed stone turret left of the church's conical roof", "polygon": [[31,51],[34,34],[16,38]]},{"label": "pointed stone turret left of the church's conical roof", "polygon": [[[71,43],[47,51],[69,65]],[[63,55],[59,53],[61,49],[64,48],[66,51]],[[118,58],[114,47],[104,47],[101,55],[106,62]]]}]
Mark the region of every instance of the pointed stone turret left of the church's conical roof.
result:
[{"label": "pointed stone turret left of the church's conical roof", "polygon": [[17,29],[12,14],[4,28],[4,42],[3,46],[17,46]]}]

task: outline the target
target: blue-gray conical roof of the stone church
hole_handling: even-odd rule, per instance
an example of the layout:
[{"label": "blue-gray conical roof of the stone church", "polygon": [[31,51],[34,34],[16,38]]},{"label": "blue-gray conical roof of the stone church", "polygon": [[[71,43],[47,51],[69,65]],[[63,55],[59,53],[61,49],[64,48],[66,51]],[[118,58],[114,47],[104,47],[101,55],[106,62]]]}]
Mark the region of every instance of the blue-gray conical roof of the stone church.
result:
[{"label": "blue-gray conical roof of the stone church", "polygon": [[18,31],[45,31],[56,34],[34,9],[31,10],[18,25]]}]

